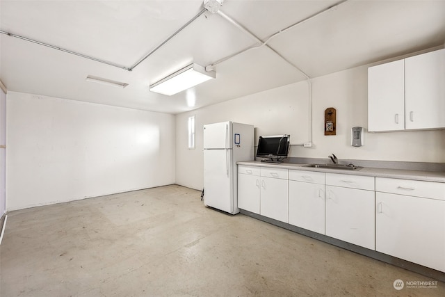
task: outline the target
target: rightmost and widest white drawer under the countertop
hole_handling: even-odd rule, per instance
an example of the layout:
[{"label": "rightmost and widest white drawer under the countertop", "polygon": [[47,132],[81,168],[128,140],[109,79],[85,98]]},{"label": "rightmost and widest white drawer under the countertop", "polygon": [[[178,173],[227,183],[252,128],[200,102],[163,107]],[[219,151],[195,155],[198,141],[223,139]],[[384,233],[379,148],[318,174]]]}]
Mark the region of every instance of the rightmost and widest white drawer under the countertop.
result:
[{"label": "rightmost and widest white drawer under the countertop", "polygon": [[442,182],[375,177],[375,191],[445,200],[445,184]]}]

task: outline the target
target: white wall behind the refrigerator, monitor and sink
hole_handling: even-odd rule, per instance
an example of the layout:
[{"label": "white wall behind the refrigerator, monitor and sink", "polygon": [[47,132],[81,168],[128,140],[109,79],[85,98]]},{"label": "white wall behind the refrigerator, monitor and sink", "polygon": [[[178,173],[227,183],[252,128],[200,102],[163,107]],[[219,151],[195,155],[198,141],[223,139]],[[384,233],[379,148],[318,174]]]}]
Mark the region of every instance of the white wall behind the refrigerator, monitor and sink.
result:
[{"label": "white wall behind the refrigerator, monitor and sink", "polygon": [[[367,127],[367,67],[312,80],[313,147],[293,145],[290,156],[339,159],[445,162],[445,130],[366,133],[363,147],[350,146],[350,128]],[[267,90],[176,117],[176,183],[201,189],[202,125],[223,120],[255,126],[261,135],[291,134],[291,143],[308,140],[307,82]],[[337,109],[337,135],[324,135],[324,111]],[[187,118],[195,114],[196,149],[187,149]]]}]

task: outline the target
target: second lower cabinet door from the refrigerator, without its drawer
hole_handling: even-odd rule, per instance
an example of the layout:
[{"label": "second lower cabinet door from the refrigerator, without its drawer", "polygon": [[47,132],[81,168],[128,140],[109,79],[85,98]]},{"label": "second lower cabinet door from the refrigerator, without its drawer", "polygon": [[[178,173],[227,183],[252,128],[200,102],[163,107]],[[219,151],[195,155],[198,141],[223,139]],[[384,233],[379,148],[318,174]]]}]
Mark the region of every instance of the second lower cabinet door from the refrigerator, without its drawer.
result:
[{"label": "second lower cabinet door from the refrigerator, without its drawer", "polygon": [[261,216],[288,223],[287,184],[287,179],[261,177]]}]

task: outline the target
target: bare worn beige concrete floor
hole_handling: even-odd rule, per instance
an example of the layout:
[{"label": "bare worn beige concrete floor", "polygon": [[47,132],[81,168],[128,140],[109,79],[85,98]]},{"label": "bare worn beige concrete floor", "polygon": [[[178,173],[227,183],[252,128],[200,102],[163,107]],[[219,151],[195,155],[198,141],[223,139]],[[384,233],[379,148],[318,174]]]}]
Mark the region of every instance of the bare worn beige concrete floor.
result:
[{"label": "bare worn beige concrete floor", "polygon": [[0,253],[1,297],[445,296],[443,282],[397,291],[431,279],[175,185],[11,211]]}]

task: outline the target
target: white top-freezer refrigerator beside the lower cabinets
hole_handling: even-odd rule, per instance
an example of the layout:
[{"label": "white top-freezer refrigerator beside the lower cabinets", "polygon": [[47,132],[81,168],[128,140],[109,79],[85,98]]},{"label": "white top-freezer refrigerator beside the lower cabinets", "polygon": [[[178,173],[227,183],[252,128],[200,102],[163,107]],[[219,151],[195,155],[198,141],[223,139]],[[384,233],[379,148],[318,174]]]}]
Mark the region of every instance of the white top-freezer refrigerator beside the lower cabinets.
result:
[{"label": "white top-freezer refrigerator beside the lower cabinets", "polygon": [[254,127],[236,122],[204,125],[204,204],[238,214],[236,162],[254,160]]}]

